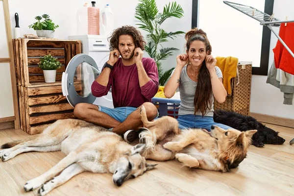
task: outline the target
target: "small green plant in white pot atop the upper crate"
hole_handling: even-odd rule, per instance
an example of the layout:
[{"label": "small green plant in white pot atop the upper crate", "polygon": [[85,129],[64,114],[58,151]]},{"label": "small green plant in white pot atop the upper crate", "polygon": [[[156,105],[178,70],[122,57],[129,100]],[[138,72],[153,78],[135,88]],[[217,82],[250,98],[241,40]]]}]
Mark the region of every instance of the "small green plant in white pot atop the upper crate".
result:
[{"label": "small green plant in white pot atop the upper crate", "polygon": [[[42,18],[44,21],[41,21]],[[36,23],[29,25],[28,27],[33,28],[37,32],[38,37],[46,37],[46,38],[53,38],[54,31],[58,28],[58,25],[55,25],[51,19],[49,19],[48,14],[43,14],[41,16],[36,16],[35,19],[37,20]]]}]

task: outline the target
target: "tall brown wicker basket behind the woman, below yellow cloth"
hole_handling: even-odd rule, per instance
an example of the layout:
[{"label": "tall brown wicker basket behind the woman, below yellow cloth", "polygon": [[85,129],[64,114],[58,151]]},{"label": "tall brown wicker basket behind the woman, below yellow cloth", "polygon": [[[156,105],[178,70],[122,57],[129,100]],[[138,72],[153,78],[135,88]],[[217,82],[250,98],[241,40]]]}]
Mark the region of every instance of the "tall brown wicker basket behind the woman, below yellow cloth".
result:
[{"label": "tall brown wicker basket behind the woman, below yellow cloth", "polygon": [[238,71],[239,84],[238,78],[233,78],[232,94],[227,96],[224,103],[219,103],[217,100],[214,100],[214,109],[229,110],[243,115],[249,115],[252,64],[238,65]]}]

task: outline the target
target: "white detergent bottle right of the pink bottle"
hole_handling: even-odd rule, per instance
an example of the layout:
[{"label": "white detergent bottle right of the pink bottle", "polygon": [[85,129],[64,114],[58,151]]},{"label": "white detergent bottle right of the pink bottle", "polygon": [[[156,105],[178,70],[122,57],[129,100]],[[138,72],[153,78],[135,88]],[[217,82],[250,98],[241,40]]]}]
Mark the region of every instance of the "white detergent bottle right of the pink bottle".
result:
[{"label": "white detergent bottle right of the pink bottle", "polygon": [[101,27],[100,31],[103,32],[100,32],[100,35],[105,35],[107,37],[114,30],[114,16],[109,4],[106,4],[101,12]]}]

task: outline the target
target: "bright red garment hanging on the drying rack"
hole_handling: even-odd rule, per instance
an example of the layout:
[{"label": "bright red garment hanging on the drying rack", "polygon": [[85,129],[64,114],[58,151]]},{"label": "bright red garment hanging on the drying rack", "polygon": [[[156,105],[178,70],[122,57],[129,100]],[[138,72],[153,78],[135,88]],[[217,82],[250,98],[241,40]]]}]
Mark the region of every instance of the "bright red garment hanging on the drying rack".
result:
[{"label": "bright red garment hanging on the drying rack", "polygon": [[[284,23],[280,25],[280,38],[286,43],[291,51],[294,51],[294,23]],[[294,58],[289,51],[278,40],[273,50],[274,64],[276,69],[281,69],[284,72],[294,74]]]}]

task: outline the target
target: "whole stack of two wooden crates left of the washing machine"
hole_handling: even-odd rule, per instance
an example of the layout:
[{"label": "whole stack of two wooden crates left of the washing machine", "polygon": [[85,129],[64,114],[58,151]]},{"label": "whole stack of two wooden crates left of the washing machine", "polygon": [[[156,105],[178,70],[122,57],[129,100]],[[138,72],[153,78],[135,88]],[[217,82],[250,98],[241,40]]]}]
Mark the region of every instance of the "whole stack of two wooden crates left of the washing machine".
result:
[{"label": "whole stack of two wooden crates left of the washing machine", "polygon": [[[13,40],[13,49],[21,129],[38,134],[56,120],[75,118],[73,107],[62,95],[61,77],[73,56],[81,53],[80,41],[21,38]],[[62,64],[53,83],[45,83],[43,70],[38,67],[46,54]],[[75,87],[81,91],[80,84],[75,83]]]}]

